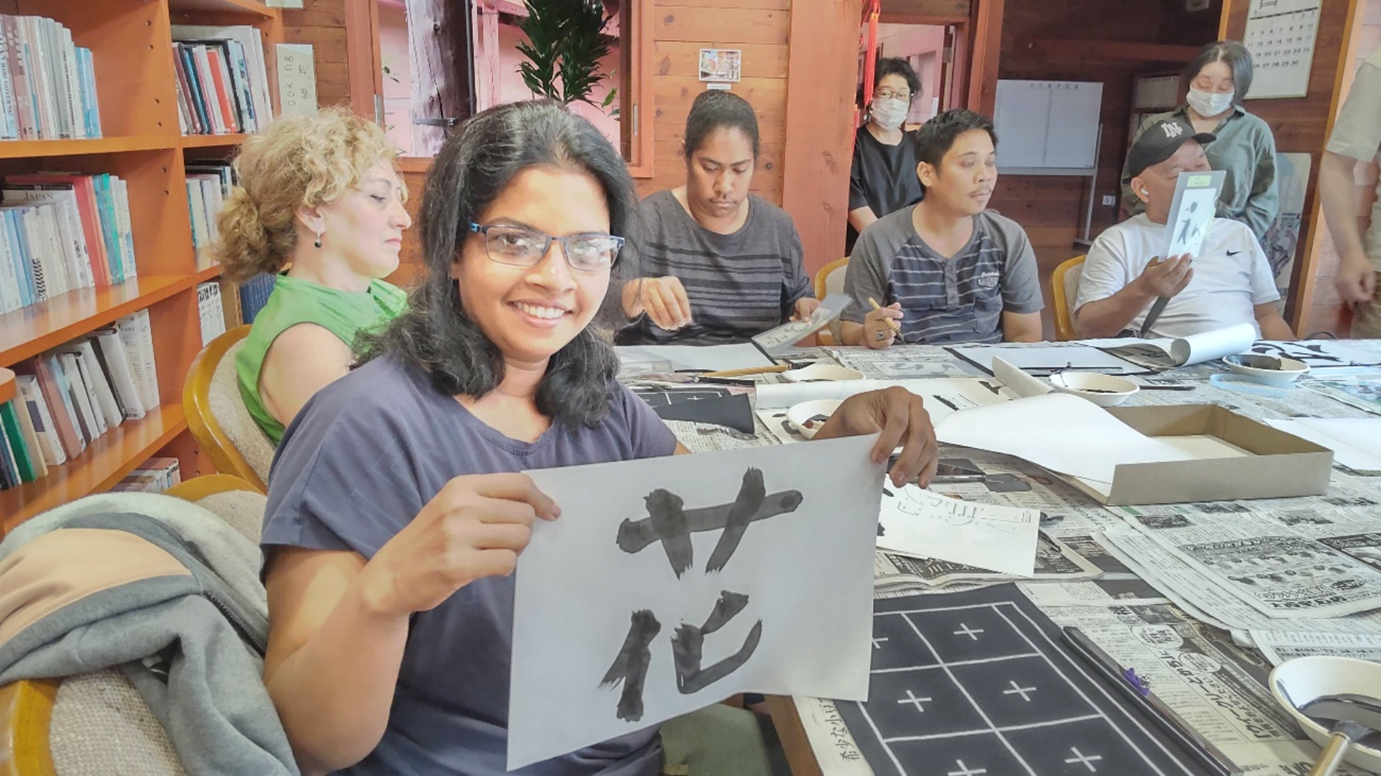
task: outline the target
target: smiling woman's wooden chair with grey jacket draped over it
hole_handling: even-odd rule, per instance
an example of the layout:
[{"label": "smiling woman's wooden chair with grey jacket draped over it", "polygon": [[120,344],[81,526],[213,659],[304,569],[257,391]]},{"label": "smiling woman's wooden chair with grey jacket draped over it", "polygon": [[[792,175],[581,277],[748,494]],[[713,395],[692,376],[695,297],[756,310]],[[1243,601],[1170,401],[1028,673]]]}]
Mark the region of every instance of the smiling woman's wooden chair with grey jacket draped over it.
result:
[{"label": "smiling woman's wooden chair with grey jacket draped over it", "polygon": [[[213,474],[167,492],[217,514],[258,544],[264,494]],[[0,776],[185,776],[153,711],[119,670],[0,686]]]}]

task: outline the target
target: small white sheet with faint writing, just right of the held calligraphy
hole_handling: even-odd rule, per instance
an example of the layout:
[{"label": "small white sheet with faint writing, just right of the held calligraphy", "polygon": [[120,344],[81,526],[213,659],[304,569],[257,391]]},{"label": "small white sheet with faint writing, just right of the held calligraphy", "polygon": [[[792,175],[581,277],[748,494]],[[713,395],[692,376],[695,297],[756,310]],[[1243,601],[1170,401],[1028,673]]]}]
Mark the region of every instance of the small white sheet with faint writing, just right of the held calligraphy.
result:
[{"label": "small white sheet with faint writing, just right of the held calligraphy", "polygon": [[1029,577],[1039,533],[1036,510],[961,501],[916,485],[885,486],[877,545],[913,558]]}]

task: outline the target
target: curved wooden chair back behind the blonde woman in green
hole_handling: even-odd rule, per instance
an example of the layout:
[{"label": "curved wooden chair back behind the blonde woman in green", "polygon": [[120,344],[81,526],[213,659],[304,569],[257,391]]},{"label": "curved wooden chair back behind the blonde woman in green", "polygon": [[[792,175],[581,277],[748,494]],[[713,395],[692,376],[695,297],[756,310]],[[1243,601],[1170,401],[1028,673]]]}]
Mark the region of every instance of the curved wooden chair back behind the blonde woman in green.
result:
[{"label": "curved wooden chair back behind the blonde woman in green", "polygon": [[202,348],[182,385],[182,411],[215,471],[268,493],[264,483],[273,463],[273,443],[250,417],[235,374],[235,353],[249,333],[249,326],[236,326]]}]

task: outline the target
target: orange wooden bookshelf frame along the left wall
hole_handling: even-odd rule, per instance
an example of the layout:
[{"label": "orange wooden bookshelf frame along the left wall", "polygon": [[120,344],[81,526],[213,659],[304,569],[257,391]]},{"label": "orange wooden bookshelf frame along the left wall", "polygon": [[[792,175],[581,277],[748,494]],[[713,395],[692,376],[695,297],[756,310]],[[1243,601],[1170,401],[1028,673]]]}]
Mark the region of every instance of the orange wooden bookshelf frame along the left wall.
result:
[{"label": "orange wooden bookshelf frame along the left wall", "polygon": [[[146,458],[175,456],[195,476],[196,445],[182,414],[182,384],[200,351],[196,284],[221,268],[192,249],[184,163],[228,156],[244,135],[184,137],[178,127],[171,25],[251,25],[264,35],[276,108],[273,44],[279,11],[257,0],[0,0],[0,12],[57,19],[91,50],[101,108],[98,139],[0,141],[0,175],[40,170],[110,173],[128,182],[138,276],[83,289],[0,315],[0,400],[15,391],[7,367],[119,318],[148,309],[160,406],[126,420],[36,482],[0,492],[0,530],[75,498],[109,489]],[[184,153],[186,152],[186,155]]]}]

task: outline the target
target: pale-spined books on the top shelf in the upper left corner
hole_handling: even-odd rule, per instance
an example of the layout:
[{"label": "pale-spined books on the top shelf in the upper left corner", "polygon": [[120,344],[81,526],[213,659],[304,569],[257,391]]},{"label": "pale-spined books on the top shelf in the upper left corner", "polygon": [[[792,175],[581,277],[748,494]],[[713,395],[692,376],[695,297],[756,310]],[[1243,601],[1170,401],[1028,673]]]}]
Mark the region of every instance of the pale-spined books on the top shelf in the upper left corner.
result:
[{"label": "pale-spined books on the top shelf in the upper left corner", "polygon": [[91,50],[52,19],[0,15],[0,138],[98,137]]}]

